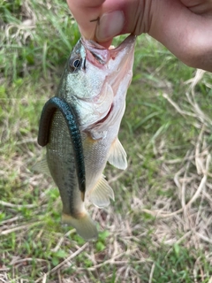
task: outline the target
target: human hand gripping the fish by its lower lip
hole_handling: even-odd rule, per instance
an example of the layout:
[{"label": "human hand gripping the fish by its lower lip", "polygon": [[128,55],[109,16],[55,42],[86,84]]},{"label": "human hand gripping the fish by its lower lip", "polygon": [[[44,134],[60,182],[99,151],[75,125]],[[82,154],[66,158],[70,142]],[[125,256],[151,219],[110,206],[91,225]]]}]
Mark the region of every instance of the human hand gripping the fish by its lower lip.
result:
[{"label": "human hand gripping the fish by its lower lip", "polygon": [[67,0],[81,34],[109,47],[148,33],[186,65],[212,72],[211,0]]}]

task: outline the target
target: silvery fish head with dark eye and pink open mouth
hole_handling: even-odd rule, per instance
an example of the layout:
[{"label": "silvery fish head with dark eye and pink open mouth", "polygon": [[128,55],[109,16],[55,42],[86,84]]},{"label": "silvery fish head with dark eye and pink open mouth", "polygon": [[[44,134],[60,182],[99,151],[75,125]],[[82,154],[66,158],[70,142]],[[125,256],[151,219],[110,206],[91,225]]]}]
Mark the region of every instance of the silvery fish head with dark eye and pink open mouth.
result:
[{"label": "silvery fish head with dark eye and pink open mouth", "polygon": [[129,35],[117,48],[110,49],[81,38],[73,48],[59,96],[74,104],[82,130],[104,119],[116,96],[125,101],[133,76],[135,38]]}]

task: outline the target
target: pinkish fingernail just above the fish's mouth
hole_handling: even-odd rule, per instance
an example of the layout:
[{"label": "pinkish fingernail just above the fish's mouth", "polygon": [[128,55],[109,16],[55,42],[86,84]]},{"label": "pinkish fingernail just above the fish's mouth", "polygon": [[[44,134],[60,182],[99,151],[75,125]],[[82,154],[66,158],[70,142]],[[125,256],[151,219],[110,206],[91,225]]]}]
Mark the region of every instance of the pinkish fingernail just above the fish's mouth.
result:
[{"label": "pinkish fingernail just above the fish's mouth", "polygon": [[105,13],[96,27],[95,37],[98,42],[106,42],[123,30],[125,16],[123,11]]}]

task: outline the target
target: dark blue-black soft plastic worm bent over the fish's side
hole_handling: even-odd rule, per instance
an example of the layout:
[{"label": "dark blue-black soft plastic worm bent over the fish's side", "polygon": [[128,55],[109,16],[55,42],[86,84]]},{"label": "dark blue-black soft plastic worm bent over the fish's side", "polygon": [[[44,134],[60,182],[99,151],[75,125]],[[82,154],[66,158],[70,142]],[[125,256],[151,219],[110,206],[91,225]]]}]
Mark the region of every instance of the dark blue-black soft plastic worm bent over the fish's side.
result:
[{"label": "dark blue-black soft plastic worm bent over the fish's side", "polygon": [[65,102],[64,99],[54,96],[50,98],[48,102],[45,103],[45,105],[43,106],[42,116],[39,125],[38,143],[42,147],[48,144],[51,119],[53,117],[53,114],[57,110],[63,114],[64,120],[69,129],[79,182],[79,190],[82,193],[82,200],[84,201],[86,192],[86,170],[81,142],[81,134],[79,131],[79,123],[77,115],[75,114],[69,103]]}]

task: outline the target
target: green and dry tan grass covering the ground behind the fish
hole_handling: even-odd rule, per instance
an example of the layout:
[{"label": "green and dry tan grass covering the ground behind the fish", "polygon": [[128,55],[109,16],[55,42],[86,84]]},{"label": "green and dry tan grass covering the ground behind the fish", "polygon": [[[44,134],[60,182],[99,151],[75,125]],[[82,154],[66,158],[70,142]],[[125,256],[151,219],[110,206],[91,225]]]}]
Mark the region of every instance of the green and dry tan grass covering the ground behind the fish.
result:
[{"label": "green and dry tan grass covering the ground behind the fish", "polygon": [[32,171],[77,26],[59,0],[2,1],[0,12],[0,281],[210,282],[211,74],[138,38],[119,133],[129,166],[106,167],[116,201],[89,206],[100,236],[85,243],[60,224],[52,180]]}]

